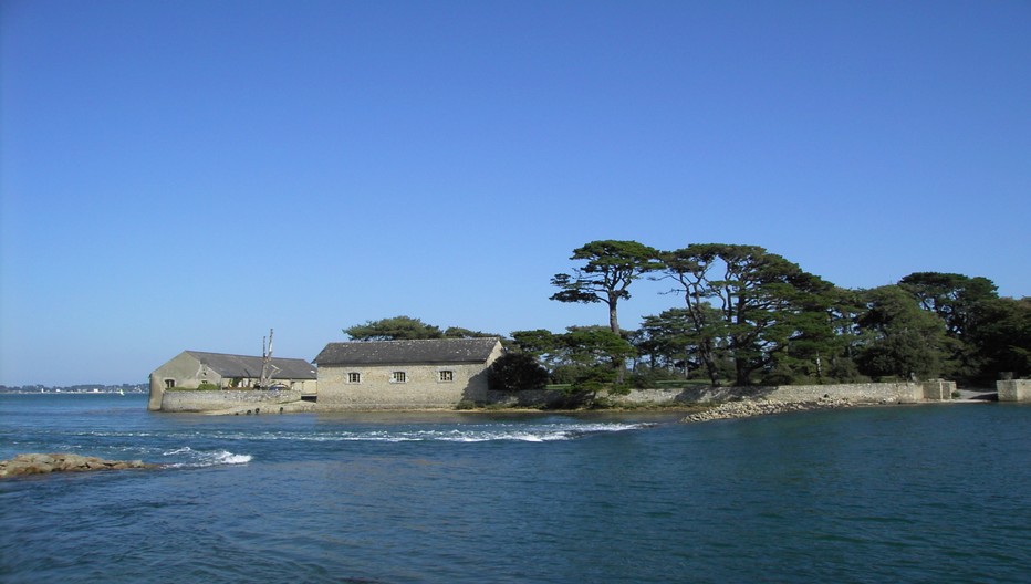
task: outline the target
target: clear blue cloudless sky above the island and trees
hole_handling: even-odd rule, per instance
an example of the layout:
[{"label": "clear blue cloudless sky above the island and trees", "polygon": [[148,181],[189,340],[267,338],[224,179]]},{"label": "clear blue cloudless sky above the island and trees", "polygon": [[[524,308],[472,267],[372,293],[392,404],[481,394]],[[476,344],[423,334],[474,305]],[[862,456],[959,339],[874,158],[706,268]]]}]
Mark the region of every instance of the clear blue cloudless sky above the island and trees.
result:
[{"label": "clear blue cloudless sky above the island and trees", "polygon": [[[576,247],[1031,295],[1031,2],[0,4],[0,383],[508,334]],[[642,283],[625,327],[677,305]]]}]

